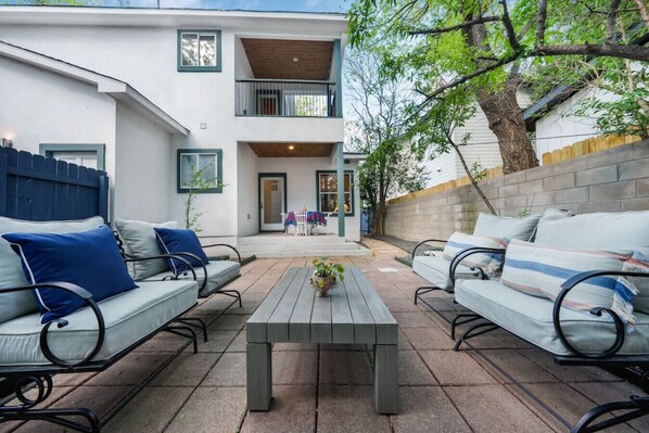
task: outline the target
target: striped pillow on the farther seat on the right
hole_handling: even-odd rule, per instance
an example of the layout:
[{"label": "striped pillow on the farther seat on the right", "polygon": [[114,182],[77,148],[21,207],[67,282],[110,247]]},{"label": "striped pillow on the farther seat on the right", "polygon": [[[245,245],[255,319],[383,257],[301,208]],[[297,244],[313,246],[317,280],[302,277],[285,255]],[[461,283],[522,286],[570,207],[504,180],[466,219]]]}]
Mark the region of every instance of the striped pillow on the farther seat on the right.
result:
[{"label": "striped pillow on the farther seat on the right", "polygon": [[[465,250],[472,247],[485,247],[485,249],[506,249],[507,239],[492,238],[492,237],[480,237],[475,234],[466,234],[455,232],[448,238],[446,246],[442,256],[447,260],[453,260],[456,255]],[[462,265],[482,268],[487,275],[495,276],[502,266],[502,254],[491,254],[480,253],[473,254],[462,260]]]}]

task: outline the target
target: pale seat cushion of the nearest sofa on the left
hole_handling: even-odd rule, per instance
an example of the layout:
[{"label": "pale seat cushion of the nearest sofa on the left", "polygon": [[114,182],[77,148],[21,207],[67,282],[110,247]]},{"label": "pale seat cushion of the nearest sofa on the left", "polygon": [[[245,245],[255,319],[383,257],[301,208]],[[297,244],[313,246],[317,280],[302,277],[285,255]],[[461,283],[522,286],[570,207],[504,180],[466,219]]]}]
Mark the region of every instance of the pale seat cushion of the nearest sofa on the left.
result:
[{"label": "pale seat cushion of the nearest sofa on the left", "polygon": [[[100,302],[105,321],[105,338],[94,360],[110,359],[138,340],[196,303],[194,281],[139,282],[139,288]],[[54,356],[84,359],[97,343],[98,326],[90,308],[65,317],[69,324],[48,334]],[[0,366],[48,365],[40,351],[40,314],[22,316],[0,323]]]}]

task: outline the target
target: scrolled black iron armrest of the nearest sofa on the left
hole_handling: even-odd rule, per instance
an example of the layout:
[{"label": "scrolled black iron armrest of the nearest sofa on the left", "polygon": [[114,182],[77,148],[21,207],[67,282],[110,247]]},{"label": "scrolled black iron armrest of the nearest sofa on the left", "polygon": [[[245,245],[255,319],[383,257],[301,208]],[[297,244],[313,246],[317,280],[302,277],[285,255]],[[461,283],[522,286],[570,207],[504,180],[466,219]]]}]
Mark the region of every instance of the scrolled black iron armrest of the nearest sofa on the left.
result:
[{"label": "scrolled black iron armrest of the nearest sofa on the left", "polygon": [[92,348],[92,351],[90,352],[90,354],[88,356],[86,356],[84,359],[81,359],[78,362],[72,362],[72,361],[66,361],[66,360],[63,360],[63,359],[56,357],[52,353],[52,351],[50,351],[50,346],[48,344],[48,331],[49,331],[50,327],[54,323],[56,323],[56,328],[59,328],[59,329],[67,327],[68,322],[67,322],[67,320],[65,320],[63,318],[51,320],[42,327],[42,329],[40,330],[40,349],[42,351],[42,354],[44,355],[44,357],[55,366],[72,368],[72,367],[77,367],[77,366],[81,366],[84,364],[89,362],[101,349],[101,346],[103,345],[104,336],[105,336],[104,318],[103,318],[103,315],[101,314],[101,310],[99,309],[99,306],[92,300],[92,294],[84,288],[80,288],[80,286],[69,283],[69,282],[62,282],[62,281],[52,281],[52,282],[43,282],[43,283],[30,284],[30,285],[22,285],[18,288],[0,289],[0,293],[21,292],[21,291],[34,290],[34,289],[64,290],[66,292],[74,294],[75,296],[80,297],[81,300],[84,300],[86,302],[86,304],[88,304],[88,306],[94,314],[94,317],[97,318],[97,323],[99,326],[99,335],[97,338],[97,343],[94,344],[94,348]]}]

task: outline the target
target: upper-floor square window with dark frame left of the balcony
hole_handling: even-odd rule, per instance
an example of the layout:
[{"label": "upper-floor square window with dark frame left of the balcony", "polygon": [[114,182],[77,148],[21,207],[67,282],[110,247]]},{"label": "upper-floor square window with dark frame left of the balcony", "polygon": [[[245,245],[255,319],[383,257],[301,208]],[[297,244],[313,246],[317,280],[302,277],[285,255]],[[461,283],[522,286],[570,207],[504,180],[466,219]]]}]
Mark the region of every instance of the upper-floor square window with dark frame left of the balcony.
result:
[{"label": "upper-floor square window with dark frame left of the balcony", "polygon": [[220,69],[219,30],[178,30],[178,71]]}]

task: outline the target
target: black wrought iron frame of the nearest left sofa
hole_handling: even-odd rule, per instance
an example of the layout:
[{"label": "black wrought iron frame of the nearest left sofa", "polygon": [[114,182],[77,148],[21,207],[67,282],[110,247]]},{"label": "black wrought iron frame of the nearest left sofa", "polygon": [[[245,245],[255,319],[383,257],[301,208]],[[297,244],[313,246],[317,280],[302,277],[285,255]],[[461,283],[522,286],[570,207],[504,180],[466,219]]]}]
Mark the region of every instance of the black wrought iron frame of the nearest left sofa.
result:
[{"label": "black wrought iron frame of the nearest left sofa", "polygon": [[[168,257],[177,258],[189,265],[184,258],[174,255],[161,255],[147,258],[125,258],[125,262],[138,262]],[[193,269],[192,273],[195,281],[196,276]],[[193,309],[198,303],[182,311],[180,315],[170,318],[156,330],[144,335],[111,358],[105,360],[93,360],[92,358],[99,353],[104,341],[105,323],[101,308],[92,300],[90,292],[84,288],[67,282],[47,282],[17,288],[0,289],[0,293],[28,291],[34,289],[43,290],[49,288],[51,288],[50,290],[67,291],[84,300],[97,319],[98,336],[96,345],[90,354],[80,361],[73,362],[61,359],[52,353],[49,346],[48,332],[52,326],[56,326],[56,328],[61,329],[65,328],[68,322],[65,320],[65,318],[61,318],[44,323],[40,331],[39,345],[43,356],[51,362],[50,365],[0,366],[0,377],[4,379],[3,383],[1,384],[2,386],[0,386],[0,423],[8,421],[38,420],[51,422],[79,432],[99,433],[101,428],[105,425],[105,423],[109,422],[115,416],[115,413],[124,408],[124,406],[126,406],[143,387],[145,387],[157,375],[157,373],[160,373],[182,352],[184,352],[187,347],[193,345],[194,354],[198,353],[198,340],[195,331],[192,329],[192,327],[187,326],[180,320],[180,318]],[[54,374],[103,371],[131,353],[135,348],[139,347],[163,331],[186,338],[187,342],[184,342],[175,353],[173,353],[168,359],[153,370],[143,381],[129,391],[129,393],[103,418],[100,419],[97,413],[87,408],[36,408],[37,405],[43,403],[51,395],[53,389],[52,377]],[[36,396],[28,396],[28,392],[36,392]],[[8,406],[8,404],[11,404],[16,399],[16,404]],[[86,420],[86,424],[73,419],[67,419],[67,417],[80,417]]]}]

